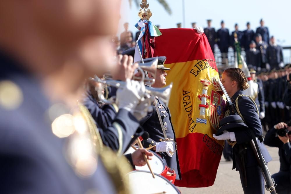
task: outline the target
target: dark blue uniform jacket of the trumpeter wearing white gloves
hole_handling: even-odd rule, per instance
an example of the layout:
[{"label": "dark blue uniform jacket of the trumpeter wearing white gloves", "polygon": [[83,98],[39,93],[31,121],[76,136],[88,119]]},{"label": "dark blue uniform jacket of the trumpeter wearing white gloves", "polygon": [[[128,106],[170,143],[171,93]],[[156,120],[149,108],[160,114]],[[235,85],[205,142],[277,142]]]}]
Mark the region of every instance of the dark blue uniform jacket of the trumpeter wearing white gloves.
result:
[{"label": "dark blue uniform jacket of the trumpeter wearing white gloves", "polygon": [[[109,96],[115,96],[114,93],[116,93],[115,89],[110,92]],[[121,153],[124,153],[130,144],[138,136],[142,135],[143,130],[139,128],[138,121],[131,113],[124,109],[118,111],[117,106],[111,104],[105,104],[100,107],[90,92],[88,92],[88,96],[83,100],[83,104],[88,108],[92,118],[95,120],[103,144],[114,151],[120,150]],[[125,119],[121,118],[121,115]],[[118,127],[113,125],[113,123],[120,119],[122,119],[121,134],[118,134],[118,130],[116,130]]]}]

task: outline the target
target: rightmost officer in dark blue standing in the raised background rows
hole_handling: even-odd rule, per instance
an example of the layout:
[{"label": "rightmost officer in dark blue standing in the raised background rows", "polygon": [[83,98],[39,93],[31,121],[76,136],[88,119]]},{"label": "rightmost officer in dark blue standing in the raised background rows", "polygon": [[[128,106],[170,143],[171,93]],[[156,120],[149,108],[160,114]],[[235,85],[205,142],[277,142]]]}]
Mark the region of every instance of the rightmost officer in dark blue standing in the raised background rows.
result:
[{"label": "rightmost officer in dark blue standing in the raised background rows", "polygon": [[283,67],[283,49],[281,46],[277,45],[276,39],[274,36],[270,39],[270,45],[266,50],[266,59],[267,66],[270,66],[270,69],[278,69]]}]

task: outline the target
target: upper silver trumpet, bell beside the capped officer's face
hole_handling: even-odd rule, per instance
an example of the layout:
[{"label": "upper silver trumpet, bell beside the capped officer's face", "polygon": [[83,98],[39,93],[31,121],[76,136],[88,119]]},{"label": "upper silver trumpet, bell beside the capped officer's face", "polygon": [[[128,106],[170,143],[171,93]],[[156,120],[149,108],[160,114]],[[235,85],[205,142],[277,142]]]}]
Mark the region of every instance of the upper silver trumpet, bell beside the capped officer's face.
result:
[{"label": "upper silver trumpet, bell beside the capped officer's face", "polygon": [[[136,81],[143,81],[147,85],[151,85],[155,83],[155,79],[151,78],[146,78],[143,71],[147,71],[153,76],[157,74],[157,63],[158,63],[158,58],[156,57],[155,59],[147,62],[147,63],[139,63],[138,65],[138,70],[139,72],[133,76],[133,80]],[[105,80],[112,80],[112,76],[110,73],[104,74],[104,79]]]}]

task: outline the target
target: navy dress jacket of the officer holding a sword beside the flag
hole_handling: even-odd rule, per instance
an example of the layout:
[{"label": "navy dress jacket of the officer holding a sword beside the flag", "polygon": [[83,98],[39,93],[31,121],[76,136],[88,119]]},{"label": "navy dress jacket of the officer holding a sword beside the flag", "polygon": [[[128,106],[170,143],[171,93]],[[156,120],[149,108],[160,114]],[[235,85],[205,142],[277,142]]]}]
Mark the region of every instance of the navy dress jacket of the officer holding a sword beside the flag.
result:
[{"label": "navy dress jacket of the officer holding a sword beside the flag", "polygon": [[[156,98],[156,102],[159,108],[159,114],[161,115],[163,121],[163,125],[164,127],[167,128],[166,130],[167,137],[174,139],[176,141],[175,131],[173,129],[171,113],[169,108],[165,105],[165,103],[161,99]],[[150,138],[148,140],[144,140],[143,147],[150,147],[152,145],[155,145],[157,142],[160,142],[160,138],[164,139],[162,127],[159,122],[155,105],[153,104],[152,106],[153,111],[149,113],[145,118],[143,118],[140,122],[143,129],[150,134]],[[177,149],[175,143],[173,143],[173,147],[174,150]],[[164,152],[159,152],[158,154],[161,155],[166,166],[175,170],[177,174],[176,179],[181,179],[178,151],[174,152],[172,157],[168,156],[168,154]]]}]

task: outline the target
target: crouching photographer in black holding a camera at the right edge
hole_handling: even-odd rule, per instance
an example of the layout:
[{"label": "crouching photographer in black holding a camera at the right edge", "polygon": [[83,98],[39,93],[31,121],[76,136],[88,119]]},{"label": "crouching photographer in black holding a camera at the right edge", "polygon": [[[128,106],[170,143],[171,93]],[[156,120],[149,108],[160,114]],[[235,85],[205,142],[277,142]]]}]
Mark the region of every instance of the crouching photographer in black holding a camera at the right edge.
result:
[{"label": "crouching photographer in black holding a camera at the right edge", "polygon": [[271,147],[279,148],[280,170],[272,175],[277,187],[277,193],[291,193],[291,122],[280,122],[266,134],[264,143]]}]

